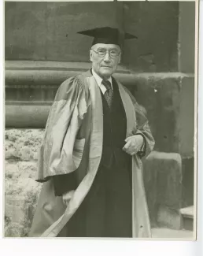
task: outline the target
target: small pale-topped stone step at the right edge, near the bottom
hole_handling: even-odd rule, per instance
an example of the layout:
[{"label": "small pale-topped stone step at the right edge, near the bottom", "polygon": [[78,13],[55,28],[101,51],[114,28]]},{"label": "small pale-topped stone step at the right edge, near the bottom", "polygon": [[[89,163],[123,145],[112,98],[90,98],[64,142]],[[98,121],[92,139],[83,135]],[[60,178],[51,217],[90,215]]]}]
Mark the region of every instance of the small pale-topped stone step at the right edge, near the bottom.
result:
[{"label": "small pale-topped stone step at the right edge, near the bottom", "polygon": [[186,230],[194,230],[194,206],[187,206],[180,209],[183,218],[183,228]]}]

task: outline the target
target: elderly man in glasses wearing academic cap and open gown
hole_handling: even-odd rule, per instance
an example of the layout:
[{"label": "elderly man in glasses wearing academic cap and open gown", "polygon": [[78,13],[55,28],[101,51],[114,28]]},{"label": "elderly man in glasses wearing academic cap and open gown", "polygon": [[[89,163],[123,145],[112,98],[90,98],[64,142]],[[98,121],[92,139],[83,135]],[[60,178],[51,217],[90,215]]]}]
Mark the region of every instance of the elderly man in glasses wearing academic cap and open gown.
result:
[{"label": "elderly man in glasses wearing academic cap and open gown", "polygon": [[141,158],[154,141],[135,98],[112,76],[120,32],[80,33],[94,36],[92,69],[65,80],[51,107],[30,236],[149,237]]}]

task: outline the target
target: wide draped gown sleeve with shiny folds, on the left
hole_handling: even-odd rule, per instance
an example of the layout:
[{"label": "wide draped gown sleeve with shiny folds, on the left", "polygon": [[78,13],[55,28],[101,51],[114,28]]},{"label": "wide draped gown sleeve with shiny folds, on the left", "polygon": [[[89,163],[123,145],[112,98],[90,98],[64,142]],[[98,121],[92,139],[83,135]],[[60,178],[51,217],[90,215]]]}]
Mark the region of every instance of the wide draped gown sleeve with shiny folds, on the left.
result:
[{"label": "wide draped gown sleeve with shiny folds, on the left", "polygon": [[[88,104],[87,90],[77,76],[61,84],[46,122],[35,180],[45,182],[53,176],[68,180],[68,174],[76,170],[72,152]],[[58,184],[58,178],[54,180]],[[74,179],[70,180],[73,186]]]}]

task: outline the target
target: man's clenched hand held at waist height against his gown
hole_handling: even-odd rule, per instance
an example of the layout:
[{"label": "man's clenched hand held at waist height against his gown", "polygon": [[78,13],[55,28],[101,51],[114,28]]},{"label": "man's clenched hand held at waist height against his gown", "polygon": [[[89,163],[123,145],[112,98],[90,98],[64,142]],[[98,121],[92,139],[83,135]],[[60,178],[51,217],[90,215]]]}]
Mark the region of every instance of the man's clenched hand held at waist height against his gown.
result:
[{"label": "man's clenched hand held at waist height against his gown", "polygon": [[142,148],[142,145],[144,143],[144,139],[142,137],[142,135],[132,135],[130,137],[127,137],[127,139],[125,139],[125,146],[123,147],[123,150],[127,153],[127,154],[137,154],[138,150],[140,150]]}]

